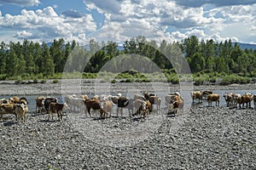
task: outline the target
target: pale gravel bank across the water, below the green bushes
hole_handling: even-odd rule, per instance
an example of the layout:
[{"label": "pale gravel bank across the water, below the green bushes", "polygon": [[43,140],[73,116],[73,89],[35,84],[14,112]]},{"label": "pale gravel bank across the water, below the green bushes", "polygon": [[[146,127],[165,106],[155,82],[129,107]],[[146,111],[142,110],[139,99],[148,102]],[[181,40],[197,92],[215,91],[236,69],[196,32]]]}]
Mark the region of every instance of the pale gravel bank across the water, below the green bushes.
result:
[{"label": "pale gravel bank across the water, below the green bushes", "polygon": [[[194,86],[188,83],[189,90],[255,90],[256,83]],[[15,81],[0,81],[1,95],[46,95],[46,94],[103,94],[111,93],[142,93],[144,91],[172,93],[180,91],[183,87],[180,84],[167,82],[101,82],[96,79],[65,79],[47,80],[44,83],[15,84]]]}]

